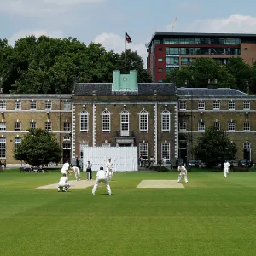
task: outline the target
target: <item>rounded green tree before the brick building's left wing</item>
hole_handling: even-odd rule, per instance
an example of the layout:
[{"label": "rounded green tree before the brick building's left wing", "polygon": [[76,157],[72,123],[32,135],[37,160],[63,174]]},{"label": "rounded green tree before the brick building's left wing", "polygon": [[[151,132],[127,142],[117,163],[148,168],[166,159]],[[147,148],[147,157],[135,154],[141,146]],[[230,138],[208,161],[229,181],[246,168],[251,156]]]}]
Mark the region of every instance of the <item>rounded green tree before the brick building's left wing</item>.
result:
[{"label": "rounded green tree before the brick building's left wing", "polygon": [[29,129],[15,150],[15,159],[32,166],[47,166],[61,161],[61,146],[55,135],[42,129]]}]

